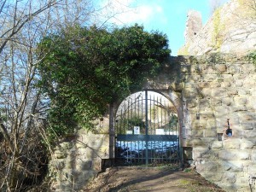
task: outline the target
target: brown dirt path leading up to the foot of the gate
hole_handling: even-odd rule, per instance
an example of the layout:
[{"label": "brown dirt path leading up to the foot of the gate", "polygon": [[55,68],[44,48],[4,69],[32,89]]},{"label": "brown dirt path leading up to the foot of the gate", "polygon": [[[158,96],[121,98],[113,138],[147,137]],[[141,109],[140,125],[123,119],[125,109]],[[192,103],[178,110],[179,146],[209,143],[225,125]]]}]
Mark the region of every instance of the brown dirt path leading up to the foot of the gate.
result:
[{"label": "brown dirt path leading up to the foot of the gate", "polygon": [[189,169],[111,167],[96,177],[86,192],[223,192]]}]

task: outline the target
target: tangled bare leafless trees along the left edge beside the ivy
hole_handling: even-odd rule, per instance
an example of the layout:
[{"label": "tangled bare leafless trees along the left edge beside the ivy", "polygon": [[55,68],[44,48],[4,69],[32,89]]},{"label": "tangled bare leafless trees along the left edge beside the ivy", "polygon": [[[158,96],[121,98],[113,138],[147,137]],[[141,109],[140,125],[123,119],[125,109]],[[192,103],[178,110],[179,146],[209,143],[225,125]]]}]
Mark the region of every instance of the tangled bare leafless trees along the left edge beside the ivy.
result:
[{"label": "tangled bare leafless trees along the left edge beside the ivy", "polygon": [[90,1],[0,2],[1,189],[19,191],[44,176],[47,137],[40,133],[48,105],[37,87],[38,42],[49,32],[86,25],[92,12]]}]

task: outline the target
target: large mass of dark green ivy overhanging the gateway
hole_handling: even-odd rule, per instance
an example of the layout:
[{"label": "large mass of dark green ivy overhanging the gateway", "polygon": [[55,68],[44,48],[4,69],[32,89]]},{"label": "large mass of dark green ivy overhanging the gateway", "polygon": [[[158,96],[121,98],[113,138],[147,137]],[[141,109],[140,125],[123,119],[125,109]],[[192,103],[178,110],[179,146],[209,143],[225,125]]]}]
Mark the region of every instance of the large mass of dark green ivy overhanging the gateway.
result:
[{"label": "large mass of dark green ivy overhanging the gateway", "polygon": [[76,126],[92,128],[91,120],[109,103],[141,90],[168,58],[166,35],[144,32],[143,26],[112,31],[76,26],[45,37],[39,86],[50,98],[49,121],[58,136]]}]

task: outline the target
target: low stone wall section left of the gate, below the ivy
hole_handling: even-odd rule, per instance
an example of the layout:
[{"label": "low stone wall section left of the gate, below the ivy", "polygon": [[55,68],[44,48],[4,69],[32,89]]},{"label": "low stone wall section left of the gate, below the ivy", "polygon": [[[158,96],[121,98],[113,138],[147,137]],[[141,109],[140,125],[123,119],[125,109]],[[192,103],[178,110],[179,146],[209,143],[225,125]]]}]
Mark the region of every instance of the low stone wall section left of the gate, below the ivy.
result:
[{"label": "low stone wall section left of the gate, below the ivy", "polygon": [[79,191],[102,171],[109,157],[109,117],[96,119],[96,130],[66,136],[55,147],[49,166],[51,190]]}]

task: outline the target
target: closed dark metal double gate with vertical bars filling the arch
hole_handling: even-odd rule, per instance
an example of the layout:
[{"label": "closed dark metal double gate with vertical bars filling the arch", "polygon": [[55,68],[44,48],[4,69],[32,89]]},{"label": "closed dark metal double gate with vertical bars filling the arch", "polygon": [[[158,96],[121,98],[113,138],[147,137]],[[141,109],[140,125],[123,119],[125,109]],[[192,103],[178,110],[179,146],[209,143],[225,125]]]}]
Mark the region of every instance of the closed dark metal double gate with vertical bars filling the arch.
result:
[{"label": "closed dark metal double gate with vertical bars filling the arch", "polygon": [[116,113],[115,133],[119,164],[179,163],[177,113],[158,93],[144,90],[127,97]]}]

